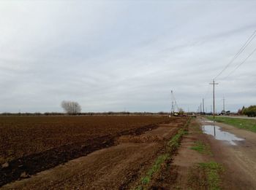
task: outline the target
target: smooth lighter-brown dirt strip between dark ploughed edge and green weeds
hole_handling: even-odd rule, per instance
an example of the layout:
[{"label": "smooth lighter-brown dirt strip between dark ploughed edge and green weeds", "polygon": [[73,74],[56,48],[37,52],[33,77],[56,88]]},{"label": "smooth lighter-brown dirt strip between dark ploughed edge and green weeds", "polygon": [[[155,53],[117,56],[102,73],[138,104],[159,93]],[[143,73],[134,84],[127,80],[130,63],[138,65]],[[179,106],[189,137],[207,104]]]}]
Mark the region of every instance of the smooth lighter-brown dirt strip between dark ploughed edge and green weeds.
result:
[{"label": "smooth lighter-brown dirt strip between dark ploughed edge and green weeds", "polygon": [[116,146],[94,151],[2,189],[127,189],[187,119],[178,120],[179,124],[160,124],[137,137],[124,135],[116,139]]}]

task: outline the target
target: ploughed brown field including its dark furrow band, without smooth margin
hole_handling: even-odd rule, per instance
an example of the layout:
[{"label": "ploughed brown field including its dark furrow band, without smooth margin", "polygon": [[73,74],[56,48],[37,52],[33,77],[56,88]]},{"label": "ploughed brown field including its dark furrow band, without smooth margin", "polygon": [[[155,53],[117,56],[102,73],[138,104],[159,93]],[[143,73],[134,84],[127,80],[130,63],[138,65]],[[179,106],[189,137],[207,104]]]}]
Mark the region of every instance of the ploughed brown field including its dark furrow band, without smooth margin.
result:
[{"label": "ploughed brown field including its dark furrow band, without smooth margin", "polygon": [[163,116],[1,116],[0,186],[171,121]]}]

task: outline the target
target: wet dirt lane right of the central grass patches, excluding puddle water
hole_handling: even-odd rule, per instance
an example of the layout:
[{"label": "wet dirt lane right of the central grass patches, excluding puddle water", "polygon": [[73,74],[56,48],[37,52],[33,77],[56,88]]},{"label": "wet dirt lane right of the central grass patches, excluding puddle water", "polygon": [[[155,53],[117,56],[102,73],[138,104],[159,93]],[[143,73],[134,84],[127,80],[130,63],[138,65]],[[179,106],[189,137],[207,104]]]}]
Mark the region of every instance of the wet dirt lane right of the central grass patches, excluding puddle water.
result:
[{"label": "wet dirt lane right of the central grass patches, excluding puddle water", "polygon": [[[203,122],[202,119],[200,122],[203,125],[213,124]],[[215,159],[225,166],[225,188],[256,189],[256,133],[228,124],[216,123],[216,125],[220,127],[220,130],[244,139],[234,140],[236,145],[232,145],[225,140],[217,140],[214,136],[207,135]]]}]

